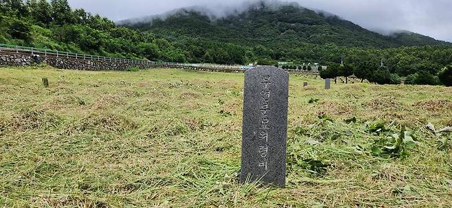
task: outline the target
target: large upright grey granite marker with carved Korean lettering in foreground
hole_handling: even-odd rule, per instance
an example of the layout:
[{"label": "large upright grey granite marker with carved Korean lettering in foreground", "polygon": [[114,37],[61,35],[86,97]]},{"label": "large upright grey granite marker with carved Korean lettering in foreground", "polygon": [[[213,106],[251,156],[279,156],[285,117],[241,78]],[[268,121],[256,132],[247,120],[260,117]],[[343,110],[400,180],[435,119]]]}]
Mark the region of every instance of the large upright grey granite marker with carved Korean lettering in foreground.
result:
[{"label": "large upright grey granite marker with carved Korean lettering in foreground", "polygon": [[257,67],[245,73],[240,181],[285,187],[289,73]]}]

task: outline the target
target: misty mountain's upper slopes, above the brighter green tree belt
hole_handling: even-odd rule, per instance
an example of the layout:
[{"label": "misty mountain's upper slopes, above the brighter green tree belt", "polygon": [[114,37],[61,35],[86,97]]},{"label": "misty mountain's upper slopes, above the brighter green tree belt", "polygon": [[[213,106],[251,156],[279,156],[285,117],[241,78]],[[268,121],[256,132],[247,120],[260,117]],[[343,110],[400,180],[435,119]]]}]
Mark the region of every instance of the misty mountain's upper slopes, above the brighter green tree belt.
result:
[{"label": "misty mountain's upper slopes, above the brighter green tree belt", "polygon": [[206,12],[182,9],[164,19],[128,24],[169,40],[206,38],[223,43],[272,48],[335,44],[344,47],[387,48],[414,45],[444,45],[444,41],[409,32],[383,36],[338,16],[314,12],[300,5],[251,5],[244,12],[212,18]]}]

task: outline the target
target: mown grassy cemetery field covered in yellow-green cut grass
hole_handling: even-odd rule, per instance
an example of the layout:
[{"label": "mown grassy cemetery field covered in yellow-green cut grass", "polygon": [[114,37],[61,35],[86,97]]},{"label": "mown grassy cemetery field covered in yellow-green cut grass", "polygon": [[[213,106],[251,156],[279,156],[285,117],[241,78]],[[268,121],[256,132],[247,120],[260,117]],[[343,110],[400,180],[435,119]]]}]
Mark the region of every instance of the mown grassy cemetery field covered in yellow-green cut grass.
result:
[{"label": "mown grassy cemetery field covered in yellow-green cut grass", "polygon": [[280,189],[238,183],[243,78],[1,68],[0,207],[452,206],[452,88],[291,75]]}]

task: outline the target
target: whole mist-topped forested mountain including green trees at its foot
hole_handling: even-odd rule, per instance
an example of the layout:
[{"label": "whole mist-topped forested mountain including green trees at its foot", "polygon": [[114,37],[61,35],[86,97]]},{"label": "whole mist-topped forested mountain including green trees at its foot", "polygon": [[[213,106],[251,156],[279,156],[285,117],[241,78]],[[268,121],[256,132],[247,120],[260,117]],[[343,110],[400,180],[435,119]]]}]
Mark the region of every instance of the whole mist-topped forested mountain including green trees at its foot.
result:
[{"label": "whole mist-topped forested mountain including green trees at its foot", "polygon": [[[385,36],[296,3],[261,1],[223,17],[185,8],[120,24],[165,38],[190,62],[319,62],[331,66],[323,77],[355,74],[381,84],[400,83],[399,76],[438,84],[438,73],[452,63],[451,43],[406,31]],[[346,65],[337,65],[341,60]]]}]

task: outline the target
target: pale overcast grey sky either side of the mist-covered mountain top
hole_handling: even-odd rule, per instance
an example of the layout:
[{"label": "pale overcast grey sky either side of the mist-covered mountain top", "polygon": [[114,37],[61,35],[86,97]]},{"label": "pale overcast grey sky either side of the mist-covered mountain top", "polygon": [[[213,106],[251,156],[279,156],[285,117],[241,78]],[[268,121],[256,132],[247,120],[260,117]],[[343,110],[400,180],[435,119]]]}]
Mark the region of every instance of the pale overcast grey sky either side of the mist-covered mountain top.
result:
[{"label": "pale overcast grey sky either side of the mist-covered mountain top", "polygon": [[[201,5],[224,12],[249,0],[69,0],[73,8],[108,16],[113,21],[162,14]],[[254,0],[251,0],[254,1]],[[409,30],[452,42],[452,0],[294,0],[325,10],[370,30]]]}]

